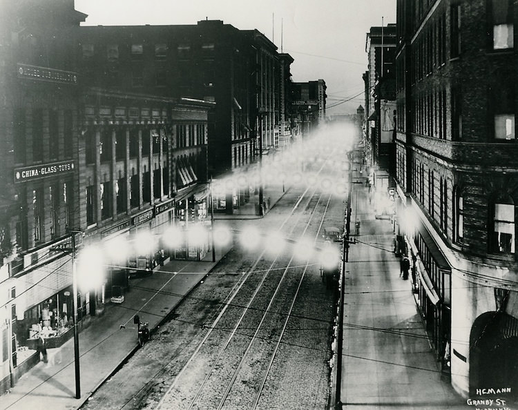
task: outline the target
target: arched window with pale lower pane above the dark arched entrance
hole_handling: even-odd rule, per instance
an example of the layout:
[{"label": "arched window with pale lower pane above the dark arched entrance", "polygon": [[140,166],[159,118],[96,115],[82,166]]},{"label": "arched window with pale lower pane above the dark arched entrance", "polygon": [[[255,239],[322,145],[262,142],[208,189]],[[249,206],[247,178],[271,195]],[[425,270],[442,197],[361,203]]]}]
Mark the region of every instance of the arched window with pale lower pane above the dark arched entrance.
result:
[{"label": "arched window with pale lower pane above the dark arched entrance", "polygon": [[490,252],[515,253],[515,204],[506,195],[497,197],[490,206]]}]

